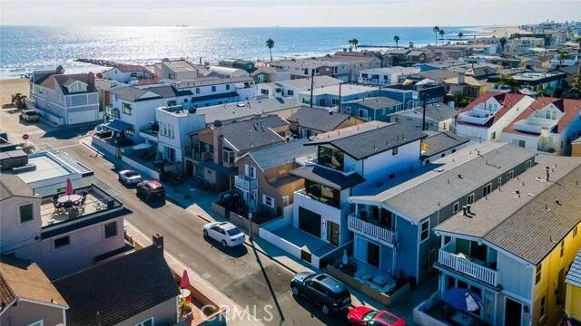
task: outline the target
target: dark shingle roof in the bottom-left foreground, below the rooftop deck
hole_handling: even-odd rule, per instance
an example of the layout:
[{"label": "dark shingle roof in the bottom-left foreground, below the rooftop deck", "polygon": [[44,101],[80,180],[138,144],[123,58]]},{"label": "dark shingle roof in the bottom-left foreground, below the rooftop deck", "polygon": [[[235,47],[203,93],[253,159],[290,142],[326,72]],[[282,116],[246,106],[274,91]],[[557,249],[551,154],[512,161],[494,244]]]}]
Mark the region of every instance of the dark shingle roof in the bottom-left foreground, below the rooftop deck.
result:
[{"label": "dark shingle roof in the bottom-left foreground, below the rooftop deck", "polygon": [[115,325],[180,294],[163,250],[155,245],[54,281],[71,325]]}]

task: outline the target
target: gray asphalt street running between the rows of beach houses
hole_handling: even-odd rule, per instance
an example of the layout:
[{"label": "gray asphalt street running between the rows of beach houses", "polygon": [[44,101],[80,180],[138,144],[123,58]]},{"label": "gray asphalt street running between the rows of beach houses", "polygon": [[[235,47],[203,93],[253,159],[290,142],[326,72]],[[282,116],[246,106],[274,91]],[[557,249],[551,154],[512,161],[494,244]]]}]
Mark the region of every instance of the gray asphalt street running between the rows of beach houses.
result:
[{"label": "gray asphalt street running between the rows of beach houses", "polygon": [[219,291],[267,325],[341,325],[344,315],[325,316],[319,307],[304,298],[293,297],[290,289],[292,274],[281,265],[253,250],[251,246],[222,249],[213,240],[202,236],[206,223],[169,201],[146,201],[135,190],[123,187],[115,167],[92,149],[80,144],[91,127],[51,130],[34,133],[30,139],[36,145],[49,144],[61,149],[94,170],[95,177],[123,195],[123,205],[133,211],[126,220],[144,235],[160,233],[166,250],[182,264],[202,275]]}]

